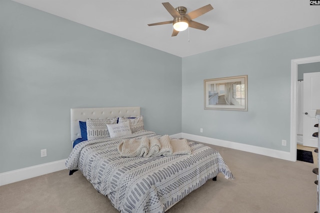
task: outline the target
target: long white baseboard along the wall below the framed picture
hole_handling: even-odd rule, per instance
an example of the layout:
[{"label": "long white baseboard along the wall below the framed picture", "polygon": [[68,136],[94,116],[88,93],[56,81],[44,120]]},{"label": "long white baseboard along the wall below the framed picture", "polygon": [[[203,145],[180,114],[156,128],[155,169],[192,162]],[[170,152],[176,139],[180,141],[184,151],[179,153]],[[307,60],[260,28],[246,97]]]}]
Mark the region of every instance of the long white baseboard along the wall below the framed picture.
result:
[{"label": "long white baseboard along the wall below the framed picture", "polygon": [[[178,135],[178,134],[176,134],[176,135]],[[203,137],[203,136],[198,136],[198,135],[191,135],[191,134],[187,134],[187,133],[180,133],[180,137],[186,138],[189,140],[193,140],[193,141],[203,142],[206,144],[215,145],[215,146],[226,147],[226,148],[230,148],[230,149],[255,153],[255,154],[259,154],[259,155],[265,155],[265,156],[279,158],[279,159],[287,160],[287,161],[294,161],[294,160],[292,160],[294,158],[292,158],[290,152],[284,152],[284,151],[279,151],[279,150],[274,150],[274,149],[257,147],[257,146],[247,145],[247,144],[240,144],[240,143],[230,142],[230,141],[223,141],[223,140],[219,140],[219,139],[208,138],[208,137]]]}]

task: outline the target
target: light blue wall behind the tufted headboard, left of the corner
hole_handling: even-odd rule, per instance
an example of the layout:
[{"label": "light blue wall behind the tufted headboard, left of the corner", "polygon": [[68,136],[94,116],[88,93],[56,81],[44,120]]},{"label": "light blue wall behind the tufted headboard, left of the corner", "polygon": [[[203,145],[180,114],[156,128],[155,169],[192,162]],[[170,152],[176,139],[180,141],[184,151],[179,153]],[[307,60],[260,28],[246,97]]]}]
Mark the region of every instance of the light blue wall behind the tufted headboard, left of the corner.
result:
[{"label": "light blue wall behind the tufted headboard, left of the corner", "polygon": [[181,132],[181,58],[0,1],[0,173],[67,158],[70,108],[114,106]]}]

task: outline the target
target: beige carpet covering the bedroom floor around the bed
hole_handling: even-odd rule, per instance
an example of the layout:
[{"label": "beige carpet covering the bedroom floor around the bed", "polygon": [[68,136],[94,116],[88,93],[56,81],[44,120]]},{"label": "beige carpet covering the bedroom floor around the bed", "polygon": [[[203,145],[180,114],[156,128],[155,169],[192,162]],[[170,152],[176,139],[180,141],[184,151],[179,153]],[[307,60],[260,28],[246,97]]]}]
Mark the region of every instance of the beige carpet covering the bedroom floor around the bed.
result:
[{"label": "beige carpet covering the bedroom floor around the bed", "polygon": [[[235,176],[218,175],[167,213],[313,213],[317,164],[211,146]],[[63,170],[0,187],[1,213],[118,213],[78,171]]]}]

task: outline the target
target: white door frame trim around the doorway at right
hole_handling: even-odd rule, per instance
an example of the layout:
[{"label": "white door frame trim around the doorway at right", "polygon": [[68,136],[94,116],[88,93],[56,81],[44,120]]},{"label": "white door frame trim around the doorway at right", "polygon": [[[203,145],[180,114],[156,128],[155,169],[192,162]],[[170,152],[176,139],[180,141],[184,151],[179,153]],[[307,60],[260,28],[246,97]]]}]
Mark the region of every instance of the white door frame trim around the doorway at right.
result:
[{"label": "white door frame trim around the doorway at right", "polygon": [[320,62],[320,55],[298,58],[291,60],[291,122],[290,122],[290,159],[296,161],[296,117],[297,117],[297,94],[296,84],[298,81],[298,65]]}]

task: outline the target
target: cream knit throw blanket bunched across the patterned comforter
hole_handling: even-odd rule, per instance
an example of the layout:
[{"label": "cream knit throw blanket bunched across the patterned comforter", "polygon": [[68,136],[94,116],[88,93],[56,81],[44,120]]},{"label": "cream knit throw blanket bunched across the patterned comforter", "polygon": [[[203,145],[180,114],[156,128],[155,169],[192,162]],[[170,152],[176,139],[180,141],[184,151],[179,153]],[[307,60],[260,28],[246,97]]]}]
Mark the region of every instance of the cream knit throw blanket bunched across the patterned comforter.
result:
[{"label": "cream knit throw blanket bunched across the patterned comforter", "polygon": [[186,139],[171,140],[168,135],[157,138],[123,140],[118,145],[121,157],[155,157],[170,155],[190,155],[191,148]]}]

